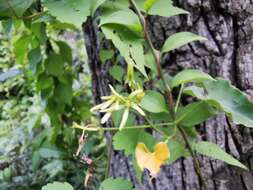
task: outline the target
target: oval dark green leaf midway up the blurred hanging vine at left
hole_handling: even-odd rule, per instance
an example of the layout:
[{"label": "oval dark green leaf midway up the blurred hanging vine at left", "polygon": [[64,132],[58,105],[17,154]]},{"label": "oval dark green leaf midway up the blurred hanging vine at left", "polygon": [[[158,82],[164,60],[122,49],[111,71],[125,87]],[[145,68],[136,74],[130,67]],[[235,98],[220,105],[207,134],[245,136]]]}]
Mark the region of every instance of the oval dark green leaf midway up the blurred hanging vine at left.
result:
[{"label": "oval dark green leaf midway up the blurred hanging vine at left", "polygon": [[61,55],[55,53],[50,54],[44,64],[49,74],[53,76],[60,76],[63,74],[64,64]]}]

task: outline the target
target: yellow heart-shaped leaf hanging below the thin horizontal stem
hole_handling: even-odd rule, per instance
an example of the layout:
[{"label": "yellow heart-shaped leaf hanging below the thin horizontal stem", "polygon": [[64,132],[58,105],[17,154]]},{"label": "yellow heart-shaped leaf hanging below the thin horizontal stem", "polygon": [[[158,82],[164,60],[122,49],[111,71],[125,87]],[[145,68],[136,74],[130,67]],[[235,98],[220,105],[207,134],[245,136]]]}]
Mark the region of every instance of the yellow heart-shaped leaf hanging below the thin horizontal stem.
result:
[{"label": "yellow heart-shaped leaf hanging below the thin horizontal stem", "polygon": [[155,177],[160,167],[169,159],[170,151],[164,142],[156,144],[154,152],[150,152],[144,143],[138,143],[135,156],[140,169],[148,169],[150,175]]}]

